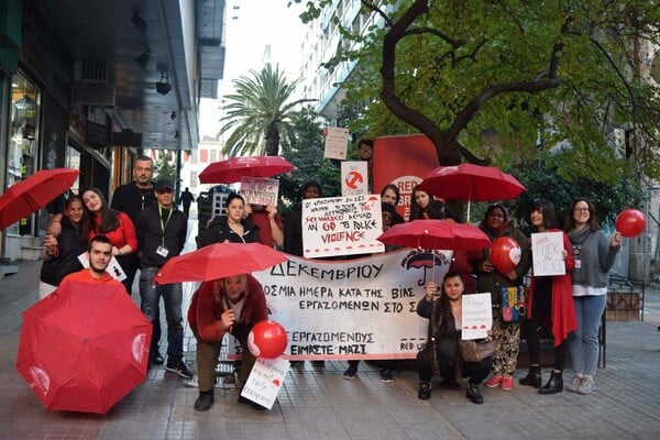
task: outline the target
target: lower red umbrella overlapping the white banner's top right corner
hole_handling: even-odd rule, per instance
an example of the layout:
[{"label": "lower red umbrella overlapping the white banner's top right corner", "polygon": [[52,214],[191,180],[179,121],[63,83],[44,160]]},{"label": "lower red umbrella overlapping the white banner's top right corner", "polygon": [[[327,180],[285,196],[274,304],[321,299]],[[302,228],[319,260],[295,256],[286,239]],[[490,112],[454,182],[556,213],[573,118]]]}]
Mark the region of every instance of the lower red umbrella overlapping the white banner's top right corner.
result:
[{"label": "lower red umbrella overlapping the white banner's top right corner", "polygon": [[378,240],[398,246],[454,251],[491,246],[491,240],[481,229],[447,220],[413,220],[395,224]]}]

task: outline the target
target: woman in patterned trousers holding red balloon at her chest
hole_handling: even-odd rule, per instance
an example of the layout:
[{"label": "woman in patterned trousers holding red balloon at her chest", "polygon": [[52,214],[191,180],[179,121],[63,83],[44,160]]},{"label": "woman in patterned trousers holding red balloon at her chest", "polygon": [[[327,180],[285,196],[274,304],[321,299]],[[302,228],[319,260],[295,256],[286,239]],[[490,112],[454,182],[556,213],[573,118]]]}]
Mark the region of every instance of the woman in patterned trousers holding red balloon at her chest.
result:
[{"label": "woman in patterned trousers holding red balloon at her chest", "polygon": [[491,250],[485,249],[482,258],[475,265],[476,292],[490,292],[493,301],[493,339],[495,340],[495,354],[493,355],[493,377],[486,382],[488,388],[501,387],[504,391],[514,388],[514,372],[518,362],[520,345],[520,323],[505,322],[499,304],[499,287],[522,286],[522,277],[529,271],[531,262],[529,240],[522,231],[515,228],[509,220],[508,212],[503,205],[494,204],[486,209],[480,229],[488,235],[491,241],[501,237],[510,237],[520,245],[521,255],[518,265],[504,274],[497,271],[491,262]]}]

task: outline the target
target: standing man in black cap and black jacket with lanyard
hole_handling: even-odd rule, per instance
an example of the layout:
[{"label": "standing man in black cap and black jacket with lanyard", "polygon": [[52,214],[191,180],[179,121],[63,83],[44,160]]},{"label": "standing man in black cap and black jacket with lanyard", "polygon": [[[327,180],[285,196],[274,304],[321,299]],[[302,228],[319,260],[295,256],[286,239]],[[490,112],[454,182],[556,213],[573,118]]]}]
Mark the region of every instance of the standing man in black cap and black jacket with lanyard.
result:
[{"label": "standing man in black cap and black jacket with lanyard", "polygon": [[[136,224],[140,243],[140,298],[141,309],[154,323],[160,300],[163,297],[167,318],[167,365],[165,370],[182,377],[191,378],[184,362],[184,318],[180,283],[154,284],[154,276],[173,256],[180,254],[186,243],[188,219],[173,202],[174,185],[158,180],[154,185],[156,204],[140,213]],[[150,351],[158,350],[158,341],[152,340]],[[150,359],[152,356],[150,355]]]}]

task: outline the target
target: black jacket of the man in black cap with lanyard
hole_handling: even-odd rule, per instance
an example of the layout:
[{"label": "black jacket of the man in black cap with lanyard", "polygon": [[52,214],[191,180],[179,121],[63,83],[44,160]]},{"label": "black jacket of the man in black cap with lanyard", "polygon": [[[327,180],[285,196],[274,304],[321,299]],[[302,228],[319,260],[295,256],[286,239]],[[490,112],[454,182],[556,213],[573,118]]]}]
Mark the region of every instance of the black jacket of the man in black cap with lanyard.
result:
[{"label": "black jacket of the man in black cap with lanyard", "polygon": [[[169,212],[172,216],[168,219]],[[142,211],[138,218],[135,231],[140,243],[140,265],[142,267],[162,266],[167,260],[179,255],[186,244],[188,232],[186,215],[176,208],[174,210],[164,209],[162,215],[163,219],[161,219],[158,204],[155,204]],[[164,231],[163,226],[165,226]],[[169,251],[167,256],[162,256],[156,252],[162,245]]]}]

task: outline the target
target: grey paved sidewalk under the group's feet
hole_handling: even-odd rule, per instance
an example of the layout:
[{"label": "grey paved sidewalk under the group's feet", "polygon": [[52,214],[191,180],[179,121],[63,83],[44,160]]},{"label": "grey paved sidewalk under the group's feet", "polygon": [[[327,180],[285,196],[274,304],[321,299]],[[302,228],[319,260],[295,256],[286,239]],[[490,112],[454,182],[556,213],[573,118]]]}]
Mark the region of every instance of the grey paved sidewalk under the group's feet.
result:
[{"label": "grey paved sidewalk under the group's feet", "polygon": [[[16,372],[21,315],[37,300],[41,263],[18,265],[18,274],[0,280],[0,439],[660,438],[657,292],[647,293],[645,322],[608,322],[606,369],[597,372],[596,391],[588,396],[540,396],[516,386],[512,392],[483,388],[484,405],[471,404],[464,391],[433,389],[430,400],[419,400],[415,372],[398,372],[394,383],[382,383],[377,369],[363,362],[359,376],[346,381],[341,375],[345,362],[327,362],[324,369],[307,362],[287,374],[270,411],[238,405],[237,388],[218,387],[211,410],[197,413],[197,389],[158,367],[99,416],[46,410]],[[194,367],[189,332],[187,339],[186,358]],[[518,371],[516,377],[524,374]],[[570,377],[566,371],[564,380]]]}]

